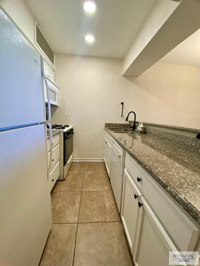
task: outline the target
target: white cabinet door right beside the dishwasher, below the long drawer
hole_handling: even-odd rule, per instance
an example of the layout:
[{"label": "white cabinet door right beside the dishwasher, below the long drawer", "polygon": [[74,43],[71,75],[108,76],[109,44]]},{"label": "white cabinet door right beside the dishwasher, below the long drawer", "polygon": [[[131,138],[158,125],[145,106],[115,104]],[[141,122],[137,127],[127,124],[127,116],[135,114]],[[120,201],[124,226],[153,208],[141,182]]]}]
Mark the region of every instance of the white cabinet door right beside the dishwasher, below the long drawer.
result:
[{"label": "white cabinet door right beside the dishwasher, below the long drawer", "polygon": [[133,244],[137,227],[138,199],[141,198],[141,192],[135,185],[133,179],[124,170],[123,194],[121,218],[128,239],[128,244],[133,252]]}]

